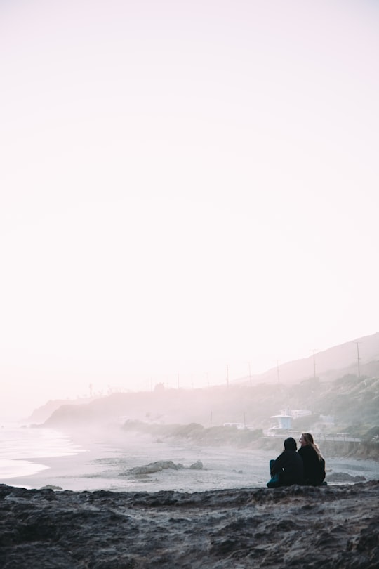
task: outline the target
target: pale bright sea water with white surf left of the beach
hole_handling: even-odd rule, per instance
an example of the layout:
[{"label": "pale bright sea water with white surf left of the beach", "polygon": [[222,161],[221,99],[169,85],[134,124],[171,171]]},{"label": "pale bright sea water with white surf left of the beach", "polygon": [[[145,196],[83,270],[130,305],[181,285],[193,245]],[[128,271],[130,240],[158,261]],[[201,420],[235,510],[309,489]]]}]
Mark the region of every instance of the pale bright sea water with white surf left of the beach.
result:
[{"label": "pale bright sea water with white surf left of the beach", "polygon": [[0,419],[0,481],[47,469],[43,461],[46,457],[65,457],[84,450],[55,429]]}]

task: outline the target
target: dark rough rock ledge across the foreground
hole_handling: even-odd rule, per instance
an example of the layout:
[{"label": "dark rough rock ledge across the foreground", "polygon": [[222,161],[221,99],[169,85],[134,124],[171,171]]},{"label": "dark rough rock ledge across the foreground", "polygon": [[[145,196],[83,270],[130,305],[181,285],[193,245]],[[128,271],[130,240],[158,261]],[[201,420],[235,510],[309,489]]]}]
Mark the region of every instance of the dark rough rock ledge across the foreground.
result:
[{"label": "dark rough rock ledge across the foreground", "polygon": [[379,481],[212,492],[0,485],[2,569],[368,569]]}]

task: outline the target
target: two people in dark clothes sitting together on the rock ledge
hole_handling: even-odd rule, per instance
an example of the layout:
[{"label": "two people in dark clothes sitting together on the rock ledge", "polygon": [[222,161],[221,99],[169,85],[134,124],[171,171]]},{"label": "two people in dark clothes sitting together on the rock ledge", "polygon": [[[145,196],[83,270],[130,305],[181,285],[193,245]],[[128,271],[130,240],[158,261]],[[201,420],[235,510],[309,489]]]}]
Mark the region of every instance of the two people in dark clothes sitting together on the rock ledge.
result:
[{"label": "two people in dark clothes sitting together on the rock ledge", "polygon": [[270,476],[267,488],[293,484],[307,486],[326,484],[324,483],[325,460],[310,433],[302,433],[299,450],[293,437],[286,438],[284,451],[277,459],[270,460]]}]

